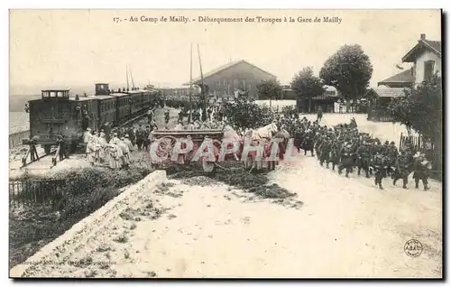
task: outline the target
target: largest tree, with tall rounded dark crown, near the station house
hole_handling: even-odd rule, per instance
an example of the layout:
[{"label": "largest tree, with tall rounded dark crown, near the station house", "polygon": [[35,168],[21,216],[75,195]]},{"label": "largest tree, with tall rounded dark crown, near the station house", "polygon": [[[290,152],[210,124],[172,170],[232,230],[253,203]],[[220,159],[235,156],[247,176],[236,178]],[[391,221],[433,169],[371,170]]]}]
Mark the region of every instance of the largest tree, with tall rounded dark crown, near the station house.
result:
[{"label": "largest tree, with tall rounded dark crown, near the station house", "polygon": [[350,100],[363,97],[373,75],[370,57],[360,45],[344,45],[326,60],[319,77],[326,85],[334,86],[346,100],[346,113]]}]

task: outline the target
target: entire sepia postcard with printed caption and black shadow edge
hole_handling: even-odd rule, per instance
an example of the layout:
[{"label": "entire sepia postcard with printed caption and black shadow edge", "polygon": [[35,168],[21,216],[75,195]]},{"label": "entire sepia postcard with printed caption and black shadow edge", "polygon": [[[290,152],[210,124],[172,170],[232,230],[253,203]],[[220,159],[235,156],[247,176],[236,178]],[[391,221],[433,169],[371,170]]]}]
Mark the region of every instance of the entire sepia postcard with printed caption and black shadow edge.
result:
[{"label": "entire sepia postcard with printed caption and black shadow edge", "polygon": [[9,17],[10,277],[443,277],[442,11]]}]

